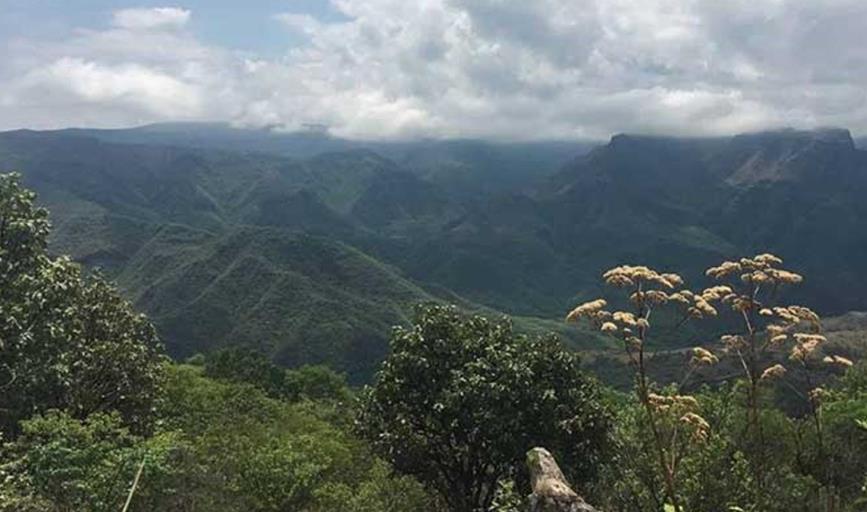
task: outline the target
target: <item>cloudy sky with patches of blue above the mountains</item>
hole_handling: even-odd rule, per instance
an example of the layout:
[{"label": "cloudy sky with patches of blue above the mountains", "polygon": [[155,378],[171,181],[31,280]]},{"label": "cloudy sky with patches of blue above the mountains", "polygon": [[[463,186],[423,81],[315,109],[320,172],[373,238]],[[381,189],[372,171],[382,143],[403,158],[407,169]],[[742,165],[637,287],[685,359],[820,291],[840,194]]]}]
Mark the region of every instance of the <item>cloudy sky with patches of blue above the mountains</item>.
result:
[{"label": "cloudy sky with patches of blue above the mountains", "polygon": [[867,134],[865,0],[0,0],[0,129]]}]

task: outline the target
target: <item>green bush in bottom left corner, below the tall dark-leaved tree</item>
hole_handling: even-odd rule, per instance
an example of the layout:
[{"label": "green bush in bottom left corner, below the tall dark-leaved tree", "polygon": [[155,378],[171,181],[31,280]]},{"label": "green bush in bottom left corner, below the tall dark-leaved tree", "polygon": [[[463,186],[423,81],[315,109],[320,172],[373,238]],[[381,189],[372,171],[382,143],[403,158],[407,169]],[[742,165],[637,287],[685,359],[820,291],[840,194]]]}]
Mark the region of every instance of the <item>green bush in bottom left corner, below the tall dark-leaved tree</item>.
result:
[{"label": "green bush in bottom left corner, below the tall dark-leaved tree", "polygon": [[0,453],[0,510],[116,512],[142,461],[131,510],[188,510],[178,505],[194,493],[177,485],[195,470],[182,463],[187,450],[173,433],[131,434],[117,413],[80,421],[49,411],[23,421],[21,435]]}]

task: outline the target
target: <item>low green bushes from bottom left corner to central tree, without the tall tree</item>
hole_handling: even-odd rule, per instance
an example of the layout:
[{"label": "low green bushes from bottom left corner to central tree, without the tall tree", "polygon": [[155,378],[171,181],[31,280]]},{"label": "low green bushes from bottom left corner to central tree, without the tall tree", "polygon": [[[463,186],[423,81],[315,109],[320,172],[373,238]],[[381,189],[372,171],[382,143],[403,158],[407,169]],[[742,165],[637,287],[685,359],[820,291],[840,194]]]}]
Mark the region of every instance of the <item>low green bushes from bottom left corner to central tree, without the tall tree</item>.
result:
[{"label": "low green bushes from bottom left corner to central tree, without the tall tree", "polygon": [[135,511],[428,508],[418,483],[393,476],[340,426],[345,411],[274,400],[197,367],[167,372],[152,436],[104,413],[25,421],[3,450],[0,510],[118,511],[142,462]]}]

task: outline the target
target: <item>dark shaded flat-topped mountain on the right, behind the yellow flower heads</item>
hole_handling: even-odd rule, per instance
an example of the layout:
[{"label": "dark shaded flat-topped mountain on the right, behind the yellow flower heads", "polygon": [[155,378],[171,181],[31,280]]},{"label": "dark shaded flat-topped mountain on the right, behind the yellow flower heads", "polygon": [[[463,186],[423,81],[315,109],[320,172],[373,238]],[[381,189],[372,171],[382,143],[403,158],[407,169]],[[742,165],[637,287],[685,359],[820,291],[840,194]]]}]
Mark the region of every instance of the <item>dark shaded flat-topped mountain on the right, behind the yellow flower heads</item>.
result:
[{"label": "dark shaded flat-topped mountain on the right, behind the yellow flower heads", "polygon": [[768,250],[809,276],[797,300],[838,314],[867,309],[865,193],[867,153],[845,131],[621,135],[485,201],[431,242],[432,264],[407,265],[471,299],[553,315],[614,264],[683,269],[701,286],[708,266]]}]

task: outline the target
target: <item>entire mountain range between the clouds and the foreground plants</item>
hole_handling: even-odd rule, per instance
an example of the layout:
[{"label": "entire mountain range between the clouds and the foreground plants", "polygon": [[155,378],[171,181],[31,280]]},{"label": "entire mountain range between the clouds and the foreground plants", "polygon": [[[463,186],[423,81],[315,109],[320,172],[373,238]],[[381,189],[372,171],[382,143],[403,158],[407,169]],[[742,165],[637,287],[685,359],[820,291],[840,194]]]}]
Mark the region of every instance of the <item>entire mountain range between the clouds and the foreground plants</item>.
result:
[{"label": "entire mountain range between the clouds and the foreground plants", "polygon": [[53,249],[103,268],[181,357],[253,344],[363,378],[417,301],[556,326],[613,264],[700,286],[760,251],[807,276],[797,300],[867,309],[867,151],[846,130],[595,146],[15,131],[0,168],[51,209]]}]

